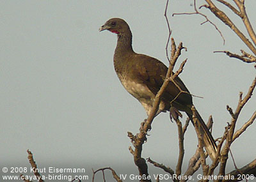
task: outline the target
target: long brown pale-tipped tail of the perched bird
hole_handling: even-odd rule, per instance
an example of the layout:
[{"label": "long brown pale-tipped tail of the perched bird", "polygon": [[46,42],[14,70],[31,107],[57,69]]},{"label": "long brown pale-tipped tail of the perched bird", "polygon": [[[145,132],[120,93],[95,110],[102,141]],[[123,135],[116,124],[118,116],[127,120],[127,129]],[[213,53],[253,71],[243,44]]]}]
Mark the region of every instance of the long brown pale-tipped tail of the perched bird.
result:
[{"label": "long brown pale-tipped tail of the perched bird", "polygon": [[[192,111],[191,111],[191,113],[192,113]],[[192,121],[193,125],[195,126],[191,113],[186,112],[189,119]],[[209,129],[205,125],[204,120],[201,118],[200,114],[197,111],[196,111],[196,118],[199,121],[199,125],[200,125],[200,128],[201,128],[200,131],[202,132],[202,135],[204,137],[204,148],[207,151],[207,153],[209,154],[211,160],[213,161],[216,158],[216,155],[217,155],[216,142],[213,139],[212,134],[209,132]]]}]

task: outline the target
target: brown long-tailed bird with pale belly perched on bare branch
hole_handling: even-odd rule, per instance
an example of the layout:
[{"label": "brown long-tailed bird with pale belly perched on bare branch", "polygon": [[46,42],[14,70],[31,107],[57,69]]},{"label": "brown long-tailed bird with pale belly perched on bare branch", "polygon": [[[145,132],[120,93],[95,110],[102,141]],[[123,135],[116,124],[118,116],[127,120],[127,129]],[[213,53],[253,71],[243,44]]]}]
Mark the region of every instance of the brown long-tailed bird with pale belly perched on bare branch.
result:
[{"label": "brown long-tailed bird with pale belly perched on bare branch", "polygon": [[[166,76],[168,68],[154,57],[146,56],[144,54],[137,54],[132,49],[132,33],[127,22],[122,19],[109,19],[99,31],[108,30],[117,34],[117,45],[114,54],[115,71],[124,88],[145,108],[147,114],[152,109],[157,91],[161,88],[164,77]],[[183,91],[187,93],[180,93],[180,90],[173,82],[169,82],[166,90],[161,97],[159,104],[160,112],[170,111],[170,108],[175,108],[186,112],[192,123],[193,106],[192,96],[188,89],[179,77],[175,78],[175,82]],[[175,98],[177,96],[177,98]],[[175,99],[175,100],[174,100]],[[174,101],[173,101],[174,100]],[[172,104],[170,103],[172,102]],[[211,159],[216,157],[216,143],[203,119],[199,113],[196,113],[200,123],[202,135],[204,136],[204,147]]]}]

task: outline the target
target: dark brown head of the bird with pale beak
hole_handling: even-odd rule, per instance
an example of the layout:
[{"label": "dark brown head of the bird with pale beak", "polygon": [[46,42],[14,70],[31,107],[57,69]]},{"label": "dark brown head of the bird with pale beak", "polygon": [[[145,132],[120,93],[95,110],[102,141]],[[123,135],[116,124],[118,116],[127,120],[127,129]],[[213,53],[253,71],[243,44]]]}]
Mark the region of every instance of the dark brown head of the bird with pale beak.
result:
[{"label": "dark brown head of the bird with pale beak", "polygon": [[109,19],[103,26],[99,28],[99,31],[108,30],[111,33],[124,34],[126,31],[130,31],[130,28],[123,19],[113,18]]}]

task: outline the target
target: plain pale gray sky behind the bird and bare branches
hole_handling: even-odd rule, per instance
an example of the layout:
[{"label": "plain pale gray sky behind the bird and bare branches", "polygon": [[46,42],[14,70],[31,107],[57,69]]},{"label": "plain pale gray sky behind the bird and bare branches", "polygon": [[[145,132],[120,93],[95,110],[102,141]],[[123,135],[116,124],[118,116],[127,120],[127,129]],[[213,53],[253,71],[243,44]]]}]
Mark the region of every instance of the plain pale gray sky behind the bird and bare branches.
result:
[{"label": "plain pale gray sky behind the bird and bare branches", "polygon": [[[125,19],[132,30],[134,50],[166,64],[165,3],[1,1],[1,165],[30,167],[26,153],[30,149],[39,167],[83,167],[90,179],[92,168],[108,166],[118,174],[128,171],[137,174],[128,150],[131,142],[127,131],[136,134],[146,113],[116,77],[113,69],[115,34],[99,33],[98,29],[112,17]],[[183,42],[188,48],[179,59],[181,63],[188,58],[180,77],[193,95],[204,97],[194,98],[193,102],[205,121],[212,114],[216,138],[230,121],[226,105],[236,109],[239,91],[248,91],[255,69],[252,64],[212,53],[214,50],[239,53],[240,49],[250,52],[213,16],[209,18],[223,33],[224,46],[213,26],[209,23],[200,26],[203,17],[171,16],[174,12],[193,11],[191,3],[170,1],[168,16],[177,45]],[[251,19],[256,17],[255,6],[254,1],[246,1]],[[238,21],[237,26],[244,30],[241,22]],[[253,96],[241,113],[237,127],[250,118],[255,101]],[[253,125],[232,145],[237,167],[255,158],[254,138]],[[189,125],[185,135],[184,169],[195,152],[196,143],[195,130]],[[177,144],[175,123],[170,122],[168,114],[161,114],[143,146],[143,157],[175,169]],[[228,169],[233,168],[230,161]],[[149,164],[149,169],[154,167]],[[98,175],[100,181],[102,176]]]}]

